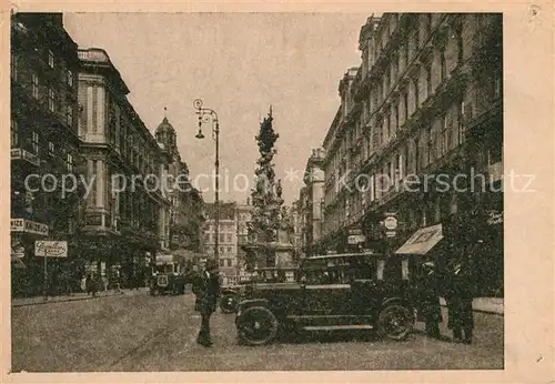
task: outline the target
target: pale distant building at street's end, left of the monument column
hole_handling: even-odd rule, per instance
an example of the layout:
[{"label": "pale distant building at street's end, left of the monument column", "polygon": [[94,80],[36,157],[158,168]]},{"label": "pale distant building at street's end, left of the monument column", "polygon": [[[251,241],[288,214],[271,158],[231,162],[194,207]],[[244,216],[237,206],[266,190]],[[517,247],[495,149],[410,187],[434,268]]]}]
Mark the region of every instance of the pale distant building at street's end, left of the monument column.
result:
[{"label": "pale distant building at street's end, left of the monument column", "polygon": [[[236,279],[238,273],[238,221],[235,202],[220,202],[219,218],[219,263],[220,272],[226,282]],[[209,257],[215,250],[215,205],[206,203],[206,222],[204,225],[204,251]]]}]

